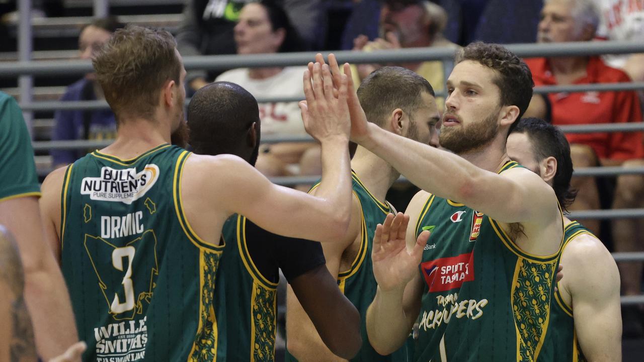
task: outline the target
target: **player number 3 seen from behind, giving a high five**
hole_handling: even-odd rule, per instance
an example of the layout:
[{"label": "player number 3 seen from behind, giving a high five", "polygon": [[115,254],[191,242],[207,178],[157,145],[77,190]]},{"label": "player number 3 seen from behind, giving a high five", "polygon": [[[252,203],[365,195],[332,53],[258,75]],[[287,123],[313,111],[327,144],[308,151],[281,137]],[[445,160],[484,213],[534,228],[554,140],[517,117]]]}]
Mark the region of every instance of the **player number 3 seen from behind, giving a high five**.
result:
[{"label": "player number 3 seen from behind, giving a high five", "polygon": [[346,231],[346,77],[336,98],[323,86],[332,82],[328,67],[304,75],[303,119],[321,142],[324,167],[323,192],[312,196],[271,184],[241,158],[168,144],[185,99],[185,70],[169,33],[118,30],[93,65],[117,138],[49,175],[42,203],[48,240],[73,286],[84,359],[216,360],[213,290],[229,216],[310,240]]}]

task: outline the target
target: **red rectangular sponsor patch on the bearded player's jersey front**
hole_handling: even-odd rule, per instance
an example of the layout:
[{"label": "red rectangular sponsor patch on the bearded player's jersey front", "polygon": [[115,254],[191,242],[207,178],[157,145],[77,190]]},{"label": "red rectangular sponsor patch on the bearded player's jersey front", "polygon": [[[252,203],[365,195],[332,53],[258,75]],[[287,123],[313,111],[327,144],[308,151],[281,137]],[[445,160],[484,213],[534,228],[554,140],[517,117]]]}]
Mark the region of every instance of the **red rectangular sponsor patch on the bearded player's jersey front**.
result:
[{"label": "red rectangular sponsor patch on the bearded player's jersey front", "polygon": [[474,280],[473,252],[421,263],[421,271],[430,292],[460,288],[465,281]]}]

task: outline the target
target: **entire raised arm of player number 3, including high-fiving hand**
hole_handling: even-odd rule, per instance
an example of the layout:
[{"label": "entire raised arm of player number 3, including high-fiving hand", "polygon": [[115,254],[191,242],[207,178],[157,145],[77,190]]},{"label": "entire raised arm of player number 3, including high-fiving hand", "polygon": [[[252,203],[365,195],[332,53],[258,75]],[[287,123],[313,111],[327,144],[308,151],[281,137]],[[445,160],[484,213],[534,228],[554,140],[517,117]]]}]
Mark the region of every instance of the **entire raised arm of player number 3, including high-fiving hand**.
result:
[{"label": "entire raised arm of player number 3, including high-fiving hand", "polygon": [[[222,220],[232,213],[240,213],[272,233],[319,242],[346,234],[351,210],[346,76],[337,97],[328,66],[316,64],[312,76],[311,81],[311,73],[305,71],[307,101],[300,106],[305,128],[322,147],[322,180],[316,195],[271,184],[238,157],[193,155],[184,167],[190,179],[182,180],[182,196],[200,192],[191,198],[196,202],[191,205],[193,209],[195,206],[198,210],[214,208],[223,213]],[[184,187],[186,182],[194,185],[193,178],[198,178],[198,183],[192,189]],[[211,192],[203,195],[203,185],[211,186]],[[193,224],[190,215],[189,220]],[[206,223],[212,224],[211,220]]]}]

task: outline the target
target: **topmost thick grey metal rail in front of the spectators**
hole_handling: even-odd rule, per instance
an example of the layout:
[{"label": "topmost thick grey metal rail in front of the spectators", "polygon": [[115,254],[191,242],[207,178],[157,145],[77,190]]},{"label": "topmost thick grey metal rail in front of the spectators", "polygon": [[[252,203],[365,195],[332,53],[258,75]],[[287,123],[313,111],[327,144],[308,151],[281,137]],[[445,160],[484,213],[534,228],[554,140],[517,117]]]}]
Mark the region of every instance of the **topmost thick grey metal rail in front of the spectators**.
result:
[{"label": "topmost thick grey metal rail in front of the spectators", "polygon": [[[570,55],[599,55],[621,53],[644,53],[644,43],[637,42],[578,42],[549,44],[508,44],[507,48],[520,57],[560,57]],[[451,59],[453,48],[406,48],[395,52],[378,50],[374,52],[354,52],[343,50],[335,52],[341,62],[387,63],[415,62]],[[266,66],[301,66],[312,61],[314,52],[271,53],[249,55],[205,55],[184,57],[187,70],[226,70],[232,68],[254,68]],[[82,74],[91,71],[89,61],[31,61],[5,62],[0,64],[0,76],[16,75],[58,75]]]}]

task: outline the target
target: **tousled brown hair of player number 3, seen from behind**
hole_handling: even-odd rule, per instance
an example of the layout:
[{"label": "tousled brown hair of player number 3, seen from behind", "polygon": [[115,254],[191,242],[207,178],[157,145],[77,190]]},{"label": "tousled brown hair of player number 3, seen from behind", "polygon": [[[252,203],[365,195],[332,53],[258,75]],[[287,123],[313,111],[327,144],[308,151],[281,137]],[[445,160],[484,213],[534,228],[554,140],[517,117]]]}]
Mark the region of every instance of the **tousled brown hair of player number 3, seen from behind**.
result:
[{"label": "tousled brown hair of player number 3, seen from behind", "polygon": [[133,25],[114,32],[92,64],[117,124],[126,114],[151,119],[164,84],[178,83],[182,69],[169,32]]}]

